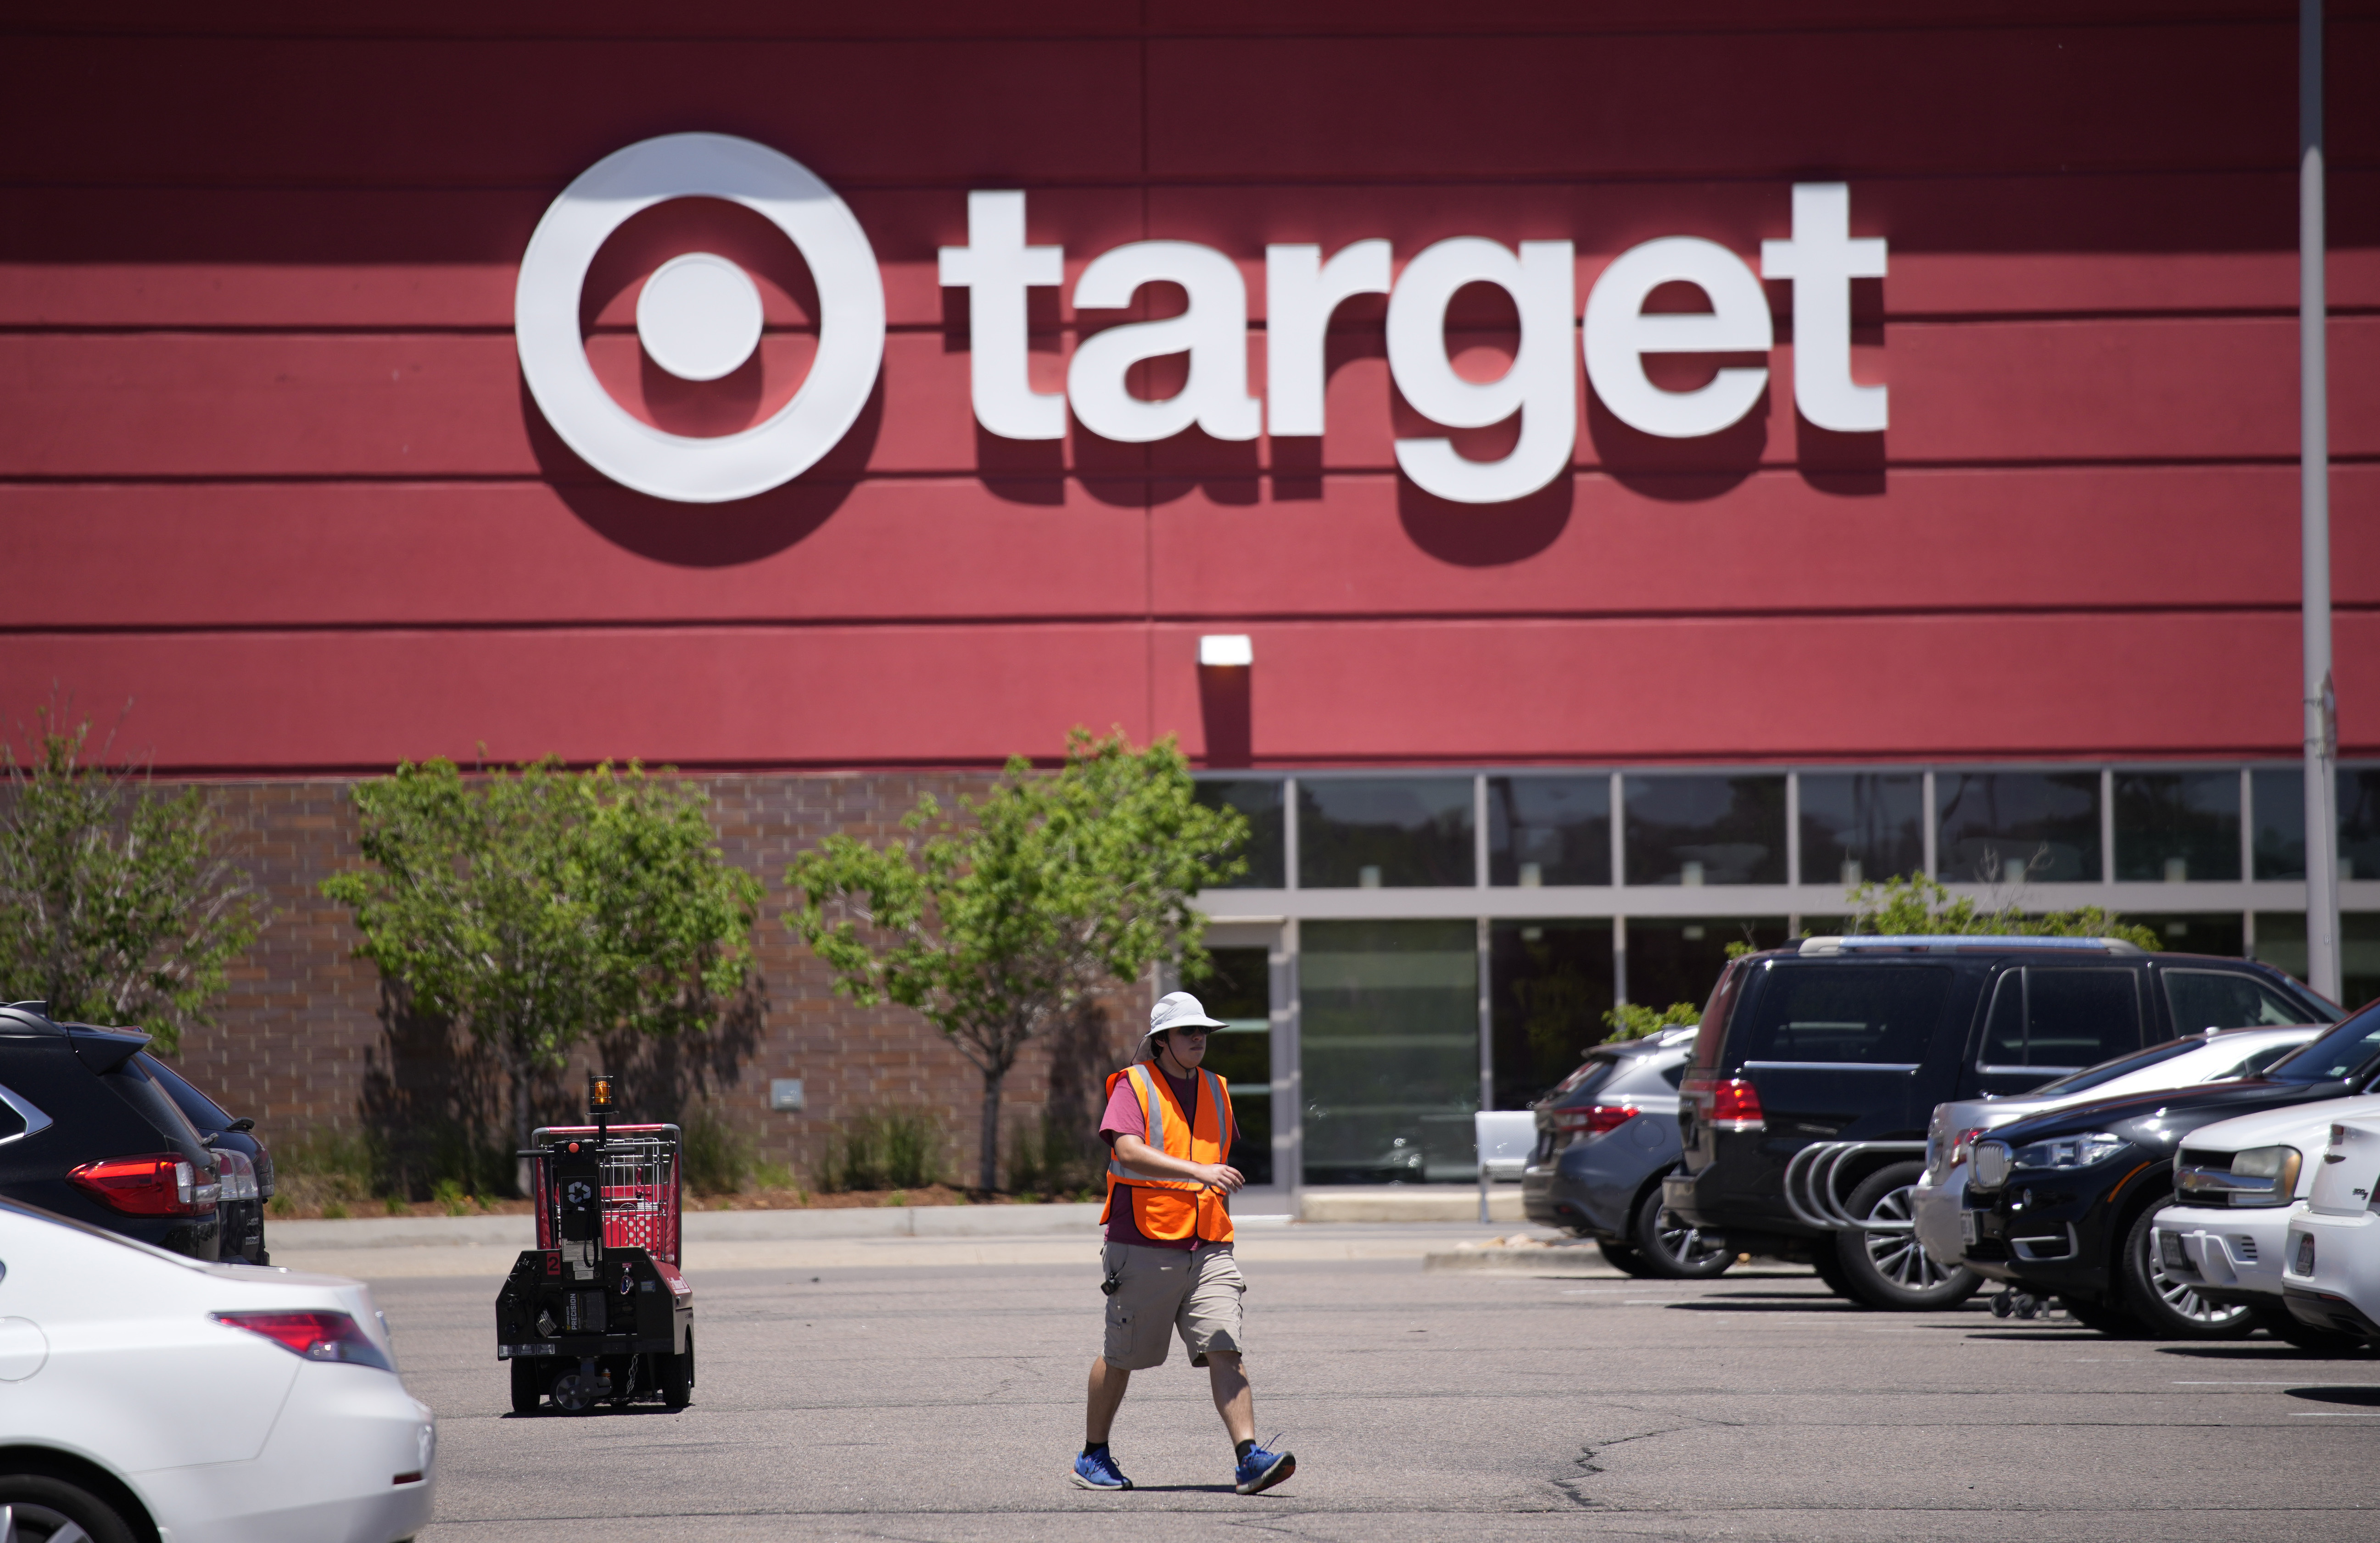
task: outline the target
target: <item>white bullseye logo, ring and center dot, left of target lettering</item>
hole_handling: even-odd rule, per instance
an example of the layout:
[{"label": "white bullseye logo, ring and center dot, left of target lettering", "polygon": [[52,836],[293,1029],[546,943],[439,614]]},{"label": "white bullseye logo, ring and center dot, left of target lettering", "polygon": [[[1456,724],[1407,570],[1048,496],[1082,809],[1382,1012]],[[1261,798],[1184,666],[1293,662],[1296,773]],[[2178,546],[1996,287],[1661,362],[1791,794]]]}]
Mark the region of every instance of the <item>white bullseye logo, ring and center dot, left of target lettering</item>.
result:
[{"label": "white bullseye logo, ring and center dot, left of target lettering", "polygon": [[[578,333],[578,295],[605,238],[674,198],[721,198],[764,217],[819,288],[809,376],[738,433],[695,438],[633,417],[595,379]],[[521,255],[512,321],[528,393],[590,467],[652,498],[731,502],[793,481],[859,419],[883,364],[885,291],[866,231],[809,167],[728,133],[666,133],[602,157],[545,210]],[[635,333],[664,371],[719,381],[759,348],[759,288],[726,257],[683,252],[645,281]]]}]

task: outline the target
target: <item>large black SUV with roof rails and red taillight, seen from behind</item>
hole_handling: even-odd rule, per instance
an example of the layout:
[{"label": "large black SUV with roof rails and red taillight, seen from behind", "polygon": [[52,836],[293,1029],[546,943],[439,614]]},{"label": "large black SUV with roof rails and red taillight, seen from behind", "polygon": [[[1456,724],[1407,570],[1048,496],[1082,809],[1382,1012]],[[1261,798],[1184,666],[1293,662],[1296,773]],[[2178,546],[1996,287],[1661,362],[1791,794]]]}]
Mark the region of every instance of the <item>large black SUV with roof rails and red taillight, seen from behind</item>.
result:
[{"label": "large black SUV with roof rails and red taillight, seen from behind", "polygon": [[1664,1198],[1730,1248],[1806,1260],[1871,1307],[1956,1303],[1980,1276],[1928,1257],[1909,1207],[1933,1107],[2247,1026],[2202,1024],[2204,1012],[2175,1024],[2166,972],[2178,967],[2249,976],[2261,991],[2235,995],[2278,1022],[2335,1017],[2268,964],[2118,938],[1804,938],[1745,955],[1704,1010]]}]

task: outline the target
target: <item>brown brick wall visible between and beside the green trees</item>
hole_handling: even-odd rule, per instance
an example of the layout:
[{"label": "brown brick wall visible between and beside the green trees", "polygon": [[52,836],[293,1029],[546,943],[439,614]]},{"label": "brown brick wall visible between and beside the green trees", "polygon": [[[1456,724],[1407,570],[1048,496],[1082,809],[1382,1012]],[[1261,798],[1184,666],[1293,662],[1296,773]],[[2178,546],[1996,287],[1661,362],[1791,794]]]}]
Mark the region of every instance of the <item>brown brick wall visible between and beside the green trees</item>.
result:
[{"label": "brown brick wall visible between and beside the green trees", "polygon": [[[828,833],[883,841],[923,793],[945,805],[981,793],[983,774],[704,776],[712,819],[728,862],[762,879],[769,895],[757,929],[764,991],[759,1036],[716,1107],[747,1131],[759,1155],[807,1174],[826,1138],[850,1114],[921,1105],[945,1117],[954,1174],[973,1174],[981,1076],[919,1014],[854,1007],[833,993],[823,964],[785,926],[785,867]],[[226,852],[274,907],[262,941],[233,969],[217,1024],[186,1036],[178,1064],[267,1141],[314,1129],[357,1129],[367,1083],[436,1076],[421,1064],[424,1036],[397,1036],[386,1019],[378,972],[355,957],[345,907],[321,898],[328,874],[362,862],[350,781],[207,783]],[[1145,1000],[1123,991],[1109,1002],[1121,1048],[1123,1019]],[[409,1057],[409,1060],[407,1060]],[[807,1110],[769,1110],[769,1081],[800,1076]],[[576,1067],[571,1083],[576,1086]],[[1007,1119],[1038,1117],[1050,1067],[1031,1045],[1004,1088]]]}]

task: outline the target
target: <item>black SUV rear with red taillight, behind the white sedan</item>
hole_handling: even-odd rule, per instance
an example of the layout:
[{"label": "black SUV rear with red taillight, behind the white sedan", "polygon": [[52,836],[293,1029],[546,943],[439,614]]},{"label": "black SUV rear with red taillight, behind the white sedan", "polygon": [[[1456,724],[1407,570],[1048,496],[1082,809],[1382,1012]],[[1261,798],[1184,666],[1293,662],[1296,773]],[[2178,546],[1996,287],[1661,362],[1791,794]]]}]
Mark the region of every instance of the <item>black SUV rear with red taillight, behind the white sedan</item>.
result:
[{"label": "black SUV rear with red taillight, behind the white sedan", "polygon": [[145,1033],[0,1007],[0,1195],[193,1260],[221,1250],[214,1152],[140,1067]]}]

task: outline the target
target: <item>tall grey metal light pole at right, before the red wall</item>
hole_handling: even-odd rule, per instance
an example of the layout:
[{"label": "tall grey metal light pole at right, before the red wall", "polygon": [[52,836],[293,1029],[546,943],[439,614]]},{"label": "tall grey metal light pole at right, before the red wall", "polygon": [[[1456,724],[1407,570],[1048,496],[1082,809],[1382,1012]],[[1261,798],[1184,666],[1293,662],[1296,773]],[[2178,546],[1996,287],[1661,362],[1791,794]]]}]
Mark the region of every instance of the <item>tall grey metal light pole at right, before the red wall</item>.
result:
[{"label": "tall grey metal light pole at right, before the red wall", "polygon": [[2340,1000],[2340,712],[2330,686],[2323,0],[2297,0],[2297,421],[2306,560],[2306,983]]}]

